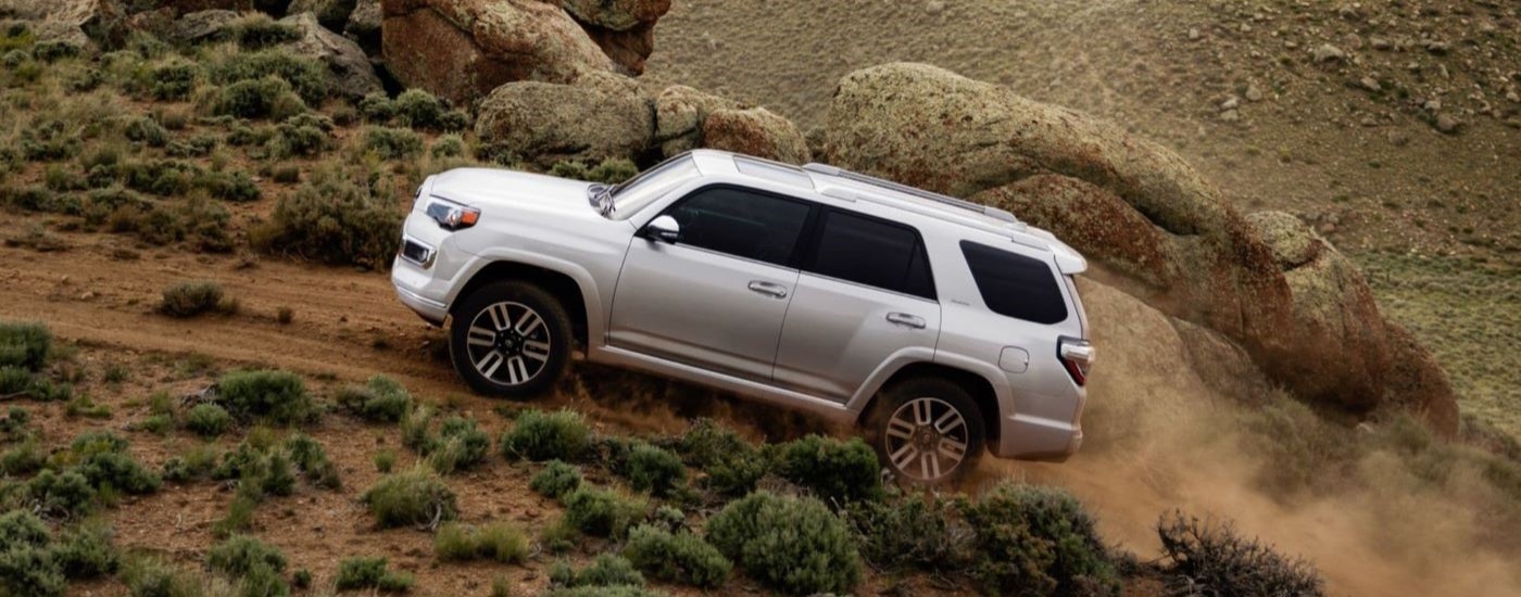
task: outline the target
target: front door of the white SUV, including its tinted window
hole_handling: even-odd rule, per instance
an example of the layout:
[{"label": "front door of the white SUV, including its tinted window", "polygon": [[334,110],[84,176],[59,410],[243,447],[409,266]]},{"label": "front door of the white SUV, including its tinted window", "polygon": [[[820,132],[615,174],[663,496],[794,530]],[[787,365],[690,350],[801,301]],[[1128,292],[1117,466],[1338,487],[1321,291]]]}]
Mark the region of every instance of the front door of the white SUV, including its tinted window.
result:
[{"label": "front door of the white SUV, including its tinted window", "polygon": [[797,286],[805,201],[704,187],[663,216],[680,240],[634,237],[613,295],[608,342],[751,380],[771,380]]}]

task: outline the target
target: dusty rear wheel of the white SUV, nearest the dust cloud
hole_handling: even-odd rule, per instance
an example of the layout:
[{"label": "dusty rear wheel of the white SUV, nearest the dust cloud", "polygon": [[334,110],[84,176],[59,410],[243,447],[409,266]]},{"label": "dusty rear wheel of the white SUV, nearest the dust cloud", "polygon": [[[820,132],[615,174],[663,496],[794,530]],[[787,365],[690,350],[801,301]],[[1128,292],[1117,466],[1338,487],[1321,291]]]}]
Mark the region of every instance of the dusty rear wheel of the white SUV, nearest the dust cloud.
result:
[{"label": "dusty rear wheel of the white SUV, nearest the dust cloud", "polygon": [[865,431],[899,483],[932,486],[957,483],[976,469],[987,427],[966,389],[946,378],[919,377],[878,395]]}]

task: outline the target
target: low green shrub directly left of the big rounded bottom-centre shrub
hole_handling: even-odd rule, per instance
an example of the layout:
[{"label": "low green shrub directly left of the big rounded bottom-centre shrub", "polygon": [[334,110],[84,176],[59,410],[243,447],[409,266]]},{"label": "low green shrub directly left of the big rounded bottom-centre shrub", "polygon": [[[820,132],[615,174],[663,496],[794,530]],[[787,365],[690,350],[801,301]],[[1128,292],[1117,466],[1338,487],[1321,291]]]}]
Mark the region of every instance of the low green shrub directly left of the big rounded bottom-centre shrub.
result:
[{"label": "low green shrub directly left of the big rounded bottom-centre shrub", "polygon": [[645,574],[683,585],[718,588],[733,564],[697,535],[639,526],[628,532],[624,558]]}]

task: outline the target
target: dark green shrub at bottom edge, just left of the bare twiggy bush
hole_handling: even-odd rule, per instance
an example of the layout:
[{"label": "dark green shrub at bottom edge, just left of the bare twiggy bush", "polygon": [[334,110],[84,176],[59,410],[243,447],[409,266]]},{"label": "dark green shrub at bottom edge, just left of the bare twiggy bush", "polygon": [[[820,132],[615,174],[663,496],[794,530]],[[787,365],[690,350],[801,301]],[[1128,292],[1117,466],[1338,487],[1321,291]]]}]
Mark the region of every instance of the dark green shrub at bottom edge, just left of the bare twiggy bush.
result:
[{"label": "dark green shrub at bottom edge, just left of the bare twiggy bush", "polygon": [[1094,518],[1071,494],[1008,482],[966,504],[963,515],[976,530],[972,576],[986,592],[1118,594]]}]

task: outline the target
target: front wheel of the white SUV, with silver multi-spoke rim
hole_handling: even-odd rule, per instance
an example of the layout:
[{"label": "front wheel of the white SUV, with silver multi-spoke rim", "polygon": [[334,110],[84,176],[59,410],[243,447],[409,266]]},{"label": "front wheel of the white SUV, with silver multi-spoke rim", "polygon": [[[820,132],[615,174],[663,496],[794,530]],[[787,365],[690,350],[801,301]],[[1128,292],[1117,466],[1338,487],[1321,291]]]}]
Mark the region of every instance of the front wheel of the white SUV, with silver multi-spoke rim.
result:
[{"label": "front wheel of the white SUV, with silver multi-spoke rim", "polygon": [[570,330],[564,305],[545,289],[523,281],[494,283],[453,311],[449,359],[479,393],[537,396],[564,374]]}]

